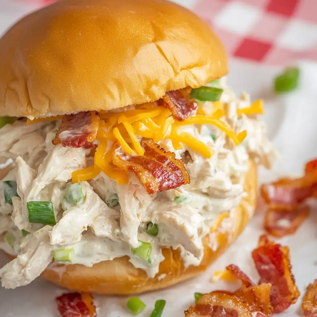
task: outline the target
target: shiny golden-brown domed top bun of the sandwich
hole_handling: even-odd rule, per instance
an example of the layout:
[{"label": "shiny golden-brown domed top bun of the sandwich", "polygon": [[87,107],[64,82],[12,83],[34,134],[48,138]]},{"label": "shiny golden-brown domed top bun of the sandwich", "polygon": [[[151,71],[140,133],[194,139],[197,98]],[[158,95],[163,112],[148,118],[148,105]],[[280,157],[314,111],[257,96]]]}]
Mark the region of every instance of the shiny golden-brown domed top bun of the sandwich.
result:
[{"label": "shiny golden-brown domed top bun of the sandwich", "polygon": [[0,39],[0,116],[51,116],[155,101],[227,74],[222,43],[165,0],[62,0]]}]

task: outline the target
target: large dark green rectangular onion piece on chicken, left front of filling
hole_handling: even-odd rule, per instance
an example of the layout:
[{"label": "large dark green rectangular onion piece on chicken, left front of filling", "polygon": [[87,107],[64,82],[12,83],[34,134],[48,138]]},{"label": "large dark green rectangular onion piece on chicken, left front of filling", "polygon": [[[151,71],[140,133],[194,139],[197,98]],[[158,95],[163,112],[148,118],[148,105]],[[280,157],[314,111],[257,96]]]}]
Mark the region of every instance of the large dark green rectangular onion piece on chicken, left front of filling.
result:
[{"label": "large dark green rectangular onion piece on chicken, left front of filling", "polygon": [[29,222],[55,226],[56,220],[51,201],[28,201]]}]

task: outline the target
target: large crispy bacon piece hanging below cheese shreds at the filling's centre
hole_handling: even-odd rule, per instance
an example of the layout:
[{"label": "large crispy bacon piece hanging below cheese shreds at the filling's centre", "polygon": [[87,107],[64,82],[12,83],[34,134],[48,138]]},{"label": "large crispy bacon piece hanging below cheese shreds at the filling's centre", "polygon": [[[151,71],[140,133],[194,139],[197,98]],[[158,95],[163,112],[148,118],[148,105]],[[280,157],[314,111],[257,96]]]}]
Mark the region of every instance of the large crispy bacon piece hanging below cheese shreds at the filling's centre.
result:
[{"label": "large crispy bacon piece hanging below cheese shreds at the filling's centre", "polygon": [[190,183],[184,163],[175,159],[175,153],[165,152],[153,139],[143,139],[141,145],[145,151],[143,156],[129,156],[117,142],[113,164],[124,171],[133,171],[145,185],[148,194]]}]

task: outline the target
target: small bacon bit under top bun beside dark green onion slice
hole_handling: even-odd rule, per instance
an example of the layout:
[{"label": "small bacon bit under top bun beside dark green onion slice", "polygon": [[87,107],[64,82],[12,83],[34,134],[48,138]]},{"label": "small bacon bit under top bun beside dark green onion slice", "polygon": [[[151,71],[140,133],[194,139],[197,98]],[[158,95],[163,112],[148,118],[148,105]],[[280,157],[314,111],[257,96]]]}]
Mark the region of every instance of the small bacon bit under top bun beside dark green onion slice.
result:
[{"label": "small bacon bit under top bun beside dark green onion slice", "polygon": [[171,110],[174,119],[183,121],[197,113],[197,102],[188,97],[183,90],[171,90],[163,96],[164,106]]}]

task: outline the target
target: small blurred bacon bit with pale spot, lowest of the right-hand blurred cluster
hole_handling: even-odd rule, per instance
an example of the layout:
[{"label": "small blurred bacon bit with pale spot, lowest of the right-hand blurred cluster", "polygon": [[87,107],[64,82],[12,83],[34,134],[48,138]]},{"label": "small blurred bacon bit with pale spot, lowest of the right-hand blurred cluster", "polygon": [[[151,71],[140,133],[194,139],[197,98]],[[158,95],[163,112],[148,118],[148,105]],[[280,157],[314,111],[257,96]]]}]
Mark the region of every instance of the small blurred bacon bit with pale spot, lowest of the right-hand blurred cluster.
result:
[{"label": "small blurred bacon bit with pale spot, lowest of the right-hand blurred cluster", "polygon": [[275,237],[292,235],[308,215],[309,208],[306,206],[290,211],[268,209],[265,213],[264,229]]}]

